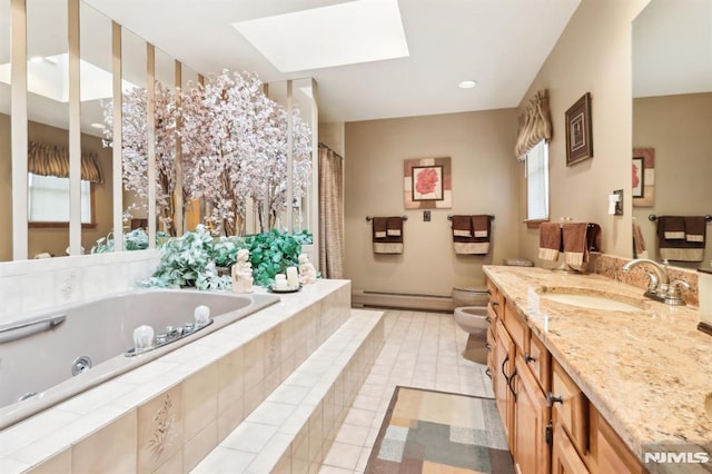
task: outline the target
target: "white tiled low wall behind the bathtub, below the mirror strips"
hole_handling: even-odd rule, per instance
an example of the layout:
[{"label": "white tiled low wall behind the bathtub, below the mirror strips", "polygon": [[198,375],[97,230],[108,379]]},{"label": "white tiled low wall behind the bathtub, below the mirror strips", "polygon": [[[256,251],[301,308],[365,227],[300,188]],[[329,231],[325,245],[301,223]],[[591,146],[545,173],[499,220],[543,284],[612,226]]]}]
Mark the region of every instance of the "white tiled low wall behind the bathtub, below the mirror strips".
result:
[{"label": "white tiled low wall behind the bathtub, below the mirror strips", "polygon": [[0,323],[21,313],[126,292],[148,278],[160,250],[116,251],[0,265]]}]

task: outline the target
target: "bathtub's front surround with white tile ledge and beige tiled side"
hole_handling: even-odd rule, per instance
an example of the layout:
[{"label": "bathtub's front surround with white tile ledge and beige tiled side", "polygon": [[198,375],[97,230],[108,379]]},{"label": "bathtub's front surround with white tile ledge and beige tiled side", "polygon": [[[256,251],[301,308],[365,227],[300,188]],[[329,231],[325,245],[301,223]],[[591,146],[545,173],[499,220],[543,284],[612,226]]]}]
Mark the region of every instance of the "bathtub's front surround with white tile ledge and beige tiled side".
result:
[{"label": "bathtub's front surround with white tile ledge and beige tiled side", "polygon": [[250,317],[0,432],[0,472],[187,472],[349,314],[348,282],[319,280],[283,295]]}]

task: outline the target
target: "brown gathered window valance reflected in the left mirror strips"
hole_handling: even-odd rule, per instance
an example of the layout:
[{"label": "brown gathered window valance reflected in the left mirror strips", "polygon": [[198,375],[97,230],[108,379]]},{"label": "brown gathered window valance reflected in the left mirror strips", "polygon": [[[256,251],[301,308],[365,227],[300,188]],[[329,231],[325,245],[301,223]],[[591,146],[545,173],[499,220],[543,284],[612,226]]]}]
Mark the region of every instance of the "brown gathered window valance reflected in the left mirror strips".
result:
[{"label": "brown gathered window valance reflected in the left mirror strips", "polygon": [[[69,178],[69,149],[59,145],[28,144],[27,170],[33,175]],[[81,179],[103,182],[99,156],[96,152],[81,152]]]}]

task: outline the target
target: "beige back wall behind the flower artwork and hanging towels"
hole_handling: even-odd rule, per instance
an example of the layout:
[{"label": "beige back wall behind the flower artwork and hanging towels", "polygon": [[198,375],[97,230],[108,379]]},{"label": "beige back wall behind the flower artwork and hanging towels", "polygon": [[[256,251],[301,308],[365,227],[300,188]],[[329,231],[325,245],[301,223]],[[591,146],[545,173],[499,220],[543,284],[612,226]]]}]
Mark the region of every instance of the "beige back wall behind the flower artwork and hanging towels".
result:
[{"label": "beige back wall behind the flower artwork and hanging towels", "polygon": [[[449,295],[517,256],[515,109],[346,124],[345,277],[354,289]],[[403,161],[451,157],[453,208],[406,210]],[[448,214],[493,214],[491,253],[456,256]],[[366,216],[406,215],[403,255],[374,255]]]}]

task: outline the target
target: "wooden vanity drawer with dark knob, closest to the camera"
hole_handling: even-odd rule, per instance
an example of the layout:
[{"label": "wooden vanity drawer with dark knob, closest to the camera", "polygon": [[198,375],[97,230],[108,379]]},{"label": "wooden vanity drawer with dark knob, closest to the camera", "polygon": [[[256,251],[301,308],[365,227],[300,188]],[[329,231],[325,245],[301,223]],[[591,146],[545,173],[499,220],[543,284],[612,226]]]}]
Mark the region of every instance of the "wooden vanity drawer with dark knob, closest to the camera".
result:
[{"label": "wooden vanity drawer with dark knob, closest to the camera", "polygon": [[568,432],[578,454],[589,451],[589,401],[556,361],[552,371],[552,417]]}]

